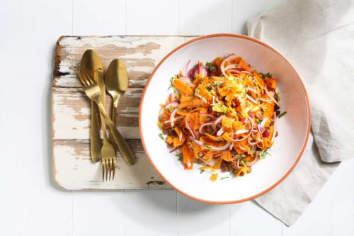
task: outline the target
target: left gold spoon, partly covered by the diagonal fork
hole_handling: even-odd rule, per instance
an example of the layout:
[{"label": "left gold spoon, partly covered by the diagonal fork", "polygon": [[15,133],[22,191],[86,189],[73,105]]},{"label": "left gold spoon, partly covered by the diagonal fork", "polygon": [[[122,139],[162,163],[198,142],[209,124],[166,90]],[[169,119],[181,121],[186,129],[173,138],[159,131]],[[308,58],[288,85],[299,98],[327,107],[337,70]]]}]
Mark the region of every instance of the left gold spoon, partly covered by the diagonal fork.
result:
[{"label": "left gold spoon, partly covered by the diagonal fork", "polygon": [[[102,69],[100,57],[93,50],[86,50],[82,55],[80,62],[80,74],[90,73],[93,75],[97,69]],[[101,139],[100,129],[97,118],[98,106],[91,101],[91,129],[90,129],[90,150],[91,159],[93,162],[98,162],[101,159]]]}]

